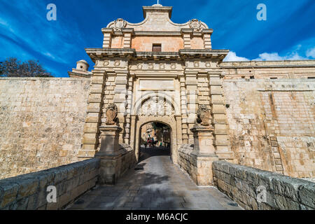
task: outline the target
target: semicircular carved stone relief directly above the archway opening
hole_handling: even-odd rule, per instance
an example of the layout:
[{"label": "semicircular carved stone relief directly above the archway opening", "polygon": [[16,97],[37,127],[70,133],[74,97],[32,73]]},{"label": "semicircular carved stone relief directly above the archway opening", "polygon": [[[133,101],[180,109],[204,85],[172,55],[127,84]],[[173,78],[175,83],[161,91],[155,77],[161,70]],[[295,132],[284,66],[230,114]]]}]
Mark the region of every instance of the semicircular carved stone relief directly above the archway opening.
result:
[{"label": "semicircular carved stone relief directly above the archway opening", "polygon": [[138,111],[139,116],[170,116],[174,115],[172,104],[166,99],[151,97],[142,103],[141,109]]}]

